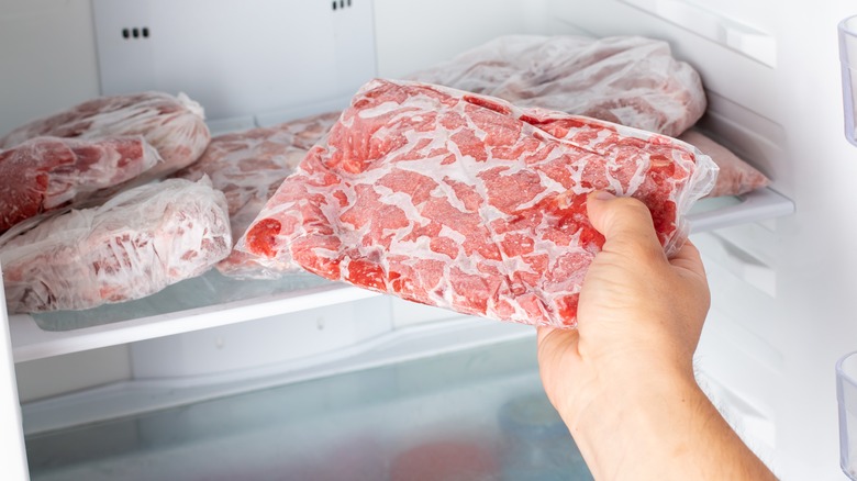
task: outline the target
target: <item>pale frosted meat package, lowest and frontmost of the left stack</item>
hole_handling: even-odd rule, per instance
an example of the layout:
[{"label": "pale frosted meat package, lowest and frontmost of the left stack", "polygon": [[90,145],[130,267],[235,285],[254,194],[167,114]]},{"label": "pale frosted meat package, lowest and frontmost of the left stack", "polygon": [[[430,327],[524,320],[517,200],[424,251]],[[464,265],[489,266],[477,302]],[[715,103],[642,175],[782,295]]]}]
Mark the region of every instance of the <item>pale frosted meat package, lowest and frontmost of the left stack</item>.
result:
[{"label": "pale frosted meat package, lowest and frontmost of the left stack", "polygon": [[0,237],[10,313],[141,299],[203,273],[232,248],[225,199],[208,179],[152,182],[38,221]]}]

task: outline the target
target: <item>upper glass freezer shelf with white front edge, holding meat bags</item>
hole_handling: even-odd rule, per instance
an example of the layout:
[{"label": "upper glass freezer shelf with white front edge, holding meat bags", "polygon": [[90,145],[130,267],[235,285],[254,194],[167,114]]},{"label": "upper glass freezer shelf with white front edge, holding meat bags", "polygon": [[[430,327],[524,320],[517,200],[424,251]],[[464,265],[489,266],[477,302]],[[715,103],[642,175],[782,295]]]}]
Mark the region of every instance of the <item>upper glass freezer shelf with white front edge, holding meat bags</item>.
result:
[{"label": "upper glass freezer shelf with white front edge, holding meat bags", "polygon": [[[771,189],[703,199],[690,215],[694,233],[794,212]],[[235,281],[215,270],[143,300],[92,310],[10,316],[15,362],[133,343],[196,329],[299,312],[378,295],[309,273],[279,281]]]}]

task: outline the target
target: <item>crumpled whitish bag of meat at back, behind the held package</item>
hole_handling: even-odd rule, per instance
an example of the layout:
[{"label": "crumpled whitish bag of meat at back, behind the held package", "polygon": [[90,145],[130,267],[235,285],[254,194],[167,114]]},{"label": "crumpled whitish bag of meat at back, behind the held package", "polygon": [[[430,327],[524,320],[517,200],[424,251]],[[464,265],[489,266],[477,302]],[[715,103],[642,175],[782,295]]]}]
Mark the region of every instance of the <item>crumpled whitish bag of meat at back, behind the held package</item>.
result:
[{"label": "crumpled whitish bag of meat at back, behind the held package", "polygon": [[706,103],[699,74],[642,36],[501,36],[408,79],[674,137]]}]

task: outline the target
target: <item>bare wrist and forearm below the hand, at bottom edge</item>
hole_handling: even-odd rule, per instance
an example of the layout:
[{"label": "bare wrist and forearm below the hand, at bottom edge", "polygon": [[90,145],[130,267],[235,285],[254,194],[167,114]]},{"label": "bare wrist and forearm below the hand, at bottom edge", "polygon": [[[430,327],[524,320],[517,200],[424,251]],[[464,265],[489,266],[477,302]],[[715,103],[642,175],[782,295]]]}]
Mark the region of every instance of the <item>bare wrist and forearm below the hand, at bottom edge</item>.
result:
[{"label": "bare wrist and forearm below the hand, at bottom edge", "polygon": [[616,390],[560,412],[596,479],[775,479],[692,373],[653,372],[642,381],[613,383]]}]

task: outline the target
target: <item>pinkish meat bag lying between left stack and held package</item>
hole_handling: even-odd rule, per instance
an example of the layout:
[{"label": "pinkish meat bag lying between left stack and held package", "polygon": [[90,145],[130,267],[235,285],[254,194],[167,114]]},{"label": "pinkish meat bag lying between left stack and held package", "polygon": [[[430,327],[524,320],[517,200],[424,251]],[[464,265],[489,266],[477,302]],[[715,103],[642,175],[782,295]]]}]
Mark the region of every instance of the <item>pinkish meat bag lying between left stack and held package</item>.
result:
[{"label": "pinkish meat bag lying between left stack and held package", "polygon": [[[216,136],[199,160],[176,172],[175,177],[199,180],[208,176],[212,186],[226,194],[232,238],[237,239],[282,180],[338,118],[338,112],[325,113]],[[219,262],[218,270],[245,279],[277,277],[258,265],[255,257],[237,250]]]}]

